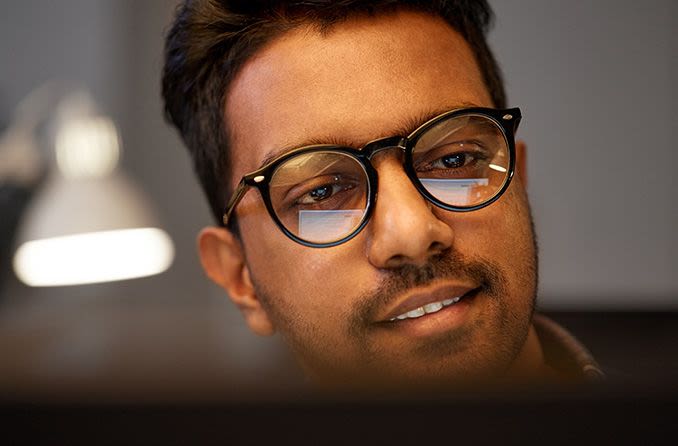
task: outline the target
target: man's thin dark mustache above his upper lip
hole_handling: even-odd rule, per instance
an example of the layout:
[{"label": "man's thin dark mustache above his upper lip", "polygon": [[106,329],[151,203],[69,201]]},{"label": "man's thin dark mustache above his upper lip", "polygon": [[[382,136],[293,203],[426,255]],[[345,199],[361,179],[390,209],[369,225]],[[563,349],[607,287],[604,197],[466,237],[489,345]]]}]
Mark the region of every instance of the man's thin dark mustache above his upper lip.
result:
[{"label": "man's thin dark mustache above his upper lip", "polygon": [[366,327],[374,322],[379,311],[399,295],[412,288],[446,279],[470,280],[494,297],[500,296],[506,286],[506,279],[496,264],[483,258],[466,259],[450,248],[432,256],[425,265],[405,264],[389,270],[388,276],[375,290],[361,296],[351,325],[354,328]]}]

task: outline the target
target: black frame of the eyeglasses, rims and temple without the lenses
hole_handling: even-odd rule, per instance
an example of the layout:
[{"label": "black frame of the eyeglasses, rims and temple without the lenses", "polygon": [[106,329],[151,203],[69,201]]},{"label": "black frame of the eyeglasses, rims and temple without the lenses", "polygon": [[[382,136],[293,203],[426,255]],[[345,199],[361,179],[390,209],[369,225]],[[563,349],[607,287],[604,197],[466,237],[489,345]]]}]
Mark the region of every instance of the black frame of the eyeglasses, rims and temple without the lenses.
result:
[{"label": "black frame of the eyeglasses, rims and temple without the lenses", "polygon": [[[467,115],[468,116],[480,115],[485,118],[489,118],[492,121],[494,121],[498,125],[498,127],[502,130],[509,151],[509,168],[506,178],[504,179],[504,183],[492,197],[488,198],[482,203],[473,206],[452,206],[437,199],[424,187],[423,184],[421,184],[421,181],[419,180],[419,177],[417,176],[414,170],[414,164],[412,161],[412,151],[414,150],[414,147],[416,146],[421,136],[424,135],[426,131],[431,127],[439,124],[444,120],[458,118],[460,116]],[[470,212],[482,209],[497,201],[499,197],[501,197],[504,194],[504,192],[506,192],[506,189],[508,189],[509,184],[511,183],[513,174],[515,172],[515,162],[516,162],[515,132],[518,130],[518,124],[520,123],[521,118],[522,115],[520,109],[517,107],[509,109],[494,109],[484,107],[461,108],[451,110],[442,113],[434,118],[431,118],[430,120],[420,125],[408,136],[405,137],[391,136],[379,138],[365,144],[363,147],[359,149],[333,144],[317,144],[293,149],[272,160],[271,162],[261,167],[260,169],[248,173],[241,178],[240,182],[238,183],[238,186],[236,187],[236,190],[233,192],[233,195],[231,196],[231,199],[228,201],[228,204],[226,205],[226,208],[224,210],[223,224],[224,226],[228,226],[229,222],[232,221],[230,217],[233,211],[235,210],[237,204],[245,196],[245,193],[249,190],[250,187],[256,187],[259,190],[262,199],[264,200],[264,205],[266,206],[269,215],[276,223],[278,228],[280,228],[280,230],[290,239],[294,240],[295,242],[301,245],[312,248],[329,248],[332,246],[337,246],[342,243],[345,243],[351,240],[356,235],[358,235],[372,217],[374,203],[377,200],[377,188],[379,184],[379,176],[374,166],[372,166],[371,158],[376,153],[382,150],[392,148],[400,148],[405,152],[405,159],[403,162],[405,173],[407,174],[415,188],[419,191],[419,193],[422,194],[429,202],[433,203],[434,205],[441,209],[453,212]],[[362,166],[363,170],[367,175],[367,189],[368,189],[367,202],[365,203],[365,214],[363,215],[360,224],[350,234],[333,242],[313,243],[297,237],[294,233],[287,229],[285,225],[280,221],[278,215],[273,209],[273,203],[271,202],[269,185],[271,178],[273,178],[274,173],[278,166],[280,166],[282,163],[284,163],[285,161],[294,156],[313,152],[335,152],[348,155],[354,158],[356,161],[358,161],[358,163]]]}]

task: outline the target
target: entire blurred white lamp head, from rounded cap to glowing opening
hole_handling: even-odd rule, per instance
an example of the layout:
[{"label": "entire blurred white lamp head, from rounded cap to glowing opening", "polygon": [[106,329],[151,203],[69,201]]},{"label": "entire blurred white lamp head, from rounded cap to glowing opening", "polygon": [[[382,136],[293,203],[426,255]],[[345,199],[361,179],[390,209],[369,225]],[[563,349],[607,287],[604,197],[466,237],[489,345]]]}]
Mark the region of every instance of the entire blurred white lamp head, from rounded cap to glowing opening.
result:
[{"label": "entire blurred white lamp head, from rounded cap to glowing opening", "polygon": [[55,119],[50,173],[22,218],[13,259],[30,286],[145,277],[172,264],[174,246],[150,201],[118,166],[120,138],[83,92]]}]

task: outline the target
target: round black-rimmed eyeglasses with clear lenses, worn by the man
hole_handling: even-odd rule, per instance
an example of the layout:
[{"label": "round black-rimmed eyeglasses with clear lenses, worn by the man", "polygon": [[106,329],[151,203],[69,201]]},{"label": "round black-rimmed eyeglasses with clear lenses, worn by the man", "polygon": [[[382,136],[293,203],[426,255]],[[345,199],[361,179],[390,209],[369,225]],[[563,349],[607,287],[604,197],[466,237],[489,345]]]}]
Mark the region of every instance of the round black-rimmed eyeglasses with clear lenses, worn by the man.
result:
[{"label": "round black-rimmed eyeglasses with clear lenses, worn by the man", "polygon": [[427,121],[409,136],[372,141],[361,149],[301,147],[242,177],[223,216],[256,187],[280,230],[305,246],[336,246],[369,221],[377,199],[372,157],[404,152],[412,184],[434,205],[455,212],[481,209],[508,188],[515,169],[514,135],[520,109],[465,108]]}]

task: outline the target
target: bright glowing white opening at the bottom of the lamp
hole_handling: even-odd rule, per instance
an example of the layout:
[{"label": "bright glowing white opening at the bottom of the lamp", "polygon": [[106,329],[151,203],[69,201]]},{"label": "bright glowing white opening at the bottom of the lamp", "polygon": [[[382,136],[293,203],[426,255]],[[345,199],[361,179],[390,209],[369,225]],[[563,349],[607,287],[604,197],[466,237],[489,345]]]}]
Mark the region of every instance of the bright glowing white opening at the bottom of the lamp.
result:
[{"label": "bright glowing white opening at the bottom of the lamp", "polygon": [[174,245],[164,231],[122,229],[26,242],[14,271],[30,286],[80,285],[159,274],[172,260]]}]

